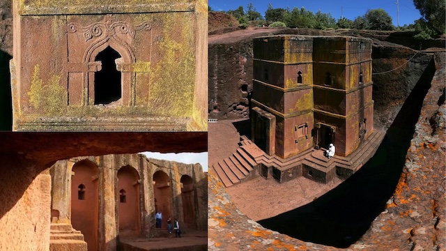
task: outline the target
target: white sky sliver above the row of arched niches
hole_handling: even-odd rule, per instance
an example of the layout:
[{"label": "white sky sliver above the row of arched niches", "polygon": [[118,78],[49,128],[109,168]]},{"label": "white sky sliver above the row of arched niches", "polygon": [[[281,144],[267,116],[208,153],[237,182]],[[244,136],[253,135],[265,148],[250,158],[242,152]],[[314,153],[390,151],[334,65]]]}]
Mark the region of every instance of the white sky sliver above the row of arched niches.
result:
[{"label": "white sky sliver above the row of arched niches", "polygon": [[142,153],[147,158],[154,158],[157,160],[174,160],[185,164],[201,164],[203,172],[208,172],[208,152],[203,153],[155,153],[144,152]]}]

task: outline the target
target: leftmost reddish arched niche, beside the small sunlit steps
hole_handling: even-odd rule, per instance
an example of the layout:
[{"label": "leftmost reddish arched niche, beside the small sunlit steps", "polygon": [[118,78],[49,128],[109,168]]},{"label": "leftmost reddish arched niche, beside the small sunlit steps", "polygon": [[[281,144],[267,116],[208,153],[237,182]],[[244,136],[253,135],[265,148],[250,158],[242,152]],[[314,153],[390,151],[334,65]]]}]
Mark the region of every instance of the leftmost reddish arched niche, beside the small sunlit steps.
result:
[{"label": "leftmost reddish arched niche, beside the small sunlit steps", "polygon": [[84,234],[89,251],[98,250],[98,167],[89,160],[72,167],[71,224]]}]

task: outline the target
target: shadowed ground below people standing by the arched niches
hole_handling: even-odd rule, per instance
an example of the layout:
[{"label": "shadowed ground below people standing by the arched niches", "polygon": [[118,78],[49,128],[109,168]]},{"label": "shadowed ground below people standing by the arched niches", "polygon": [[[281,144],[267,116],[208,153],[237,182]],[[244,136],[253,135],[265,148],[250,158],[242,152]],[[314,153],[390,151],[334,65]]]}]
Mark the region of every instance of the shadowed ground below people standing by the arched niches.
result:
[{"label": "shadowed ground below people standing by the arched niches", "polygon": [[181,238],[176,238],[175,234],[172,234],[164,238],[132,238],[122,240],[122,242],[144,250],[161,250],[166,248],[178,248],[178,250],[181,250],[181,248],[193,245],[207,246],[208,233],[207,231],[194,231],[182,234]]}]

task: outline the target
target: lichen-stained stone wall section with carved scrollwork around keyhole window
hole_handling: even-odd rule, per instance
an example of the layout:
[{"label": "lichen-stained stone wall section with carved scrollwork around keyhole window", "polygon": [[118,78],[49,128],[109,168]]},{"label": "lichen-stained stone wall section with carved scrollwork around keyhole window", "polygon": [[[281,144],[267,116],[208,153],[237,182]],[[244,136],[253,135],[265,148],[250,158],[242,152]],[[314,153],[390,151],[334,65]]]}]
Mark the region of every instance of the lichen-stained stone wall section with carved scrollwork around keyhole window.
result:
[{"label": "lichen-stained stone wall section with carved scrollwork around keyhole window", "polygon": [[13,4],[13,130],[207,130],[207,1]]}]

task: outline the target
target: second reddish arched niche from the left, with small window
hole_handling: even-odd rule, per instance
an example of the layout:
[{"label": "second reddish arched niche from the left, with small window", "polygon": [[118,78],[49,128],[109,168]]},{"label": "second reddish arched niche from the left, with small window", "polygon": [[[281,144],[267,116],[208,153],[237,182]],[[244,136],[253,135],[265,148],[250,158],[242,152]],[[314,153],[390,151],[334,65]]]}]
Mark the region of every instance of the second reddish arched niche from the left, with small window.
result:
[{"label": "second reddish arched niche from the left, with small window", "polygon": [[139,220],[139,175],[133,167],[118,170],[118,218],[119,235],[138,235]]}]

